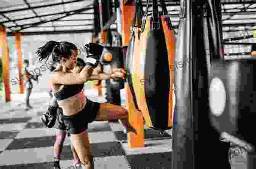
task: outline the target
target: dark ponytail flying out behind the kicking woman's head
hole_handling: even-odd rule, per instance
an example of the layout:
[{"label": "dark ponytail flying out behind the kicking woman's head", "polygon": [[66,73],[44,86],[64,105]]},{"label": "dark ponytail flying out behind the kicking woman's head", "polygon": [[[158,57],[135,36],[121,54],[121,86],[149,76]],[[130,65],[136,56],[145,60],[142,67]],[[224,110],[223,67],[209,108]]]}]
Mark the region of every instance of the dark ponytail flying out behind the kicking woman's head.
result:
[{"label": "dark ponytail flying out behind the kicking woman's head", "polygon": [[48,57],[52,54],[53,49],[59,45],[59,42],[56,41],[49,41],[44,46],[39,47],[36,54],[38,55],[38,60],[41,62],[43,59],[46,58],[48,60]]}]

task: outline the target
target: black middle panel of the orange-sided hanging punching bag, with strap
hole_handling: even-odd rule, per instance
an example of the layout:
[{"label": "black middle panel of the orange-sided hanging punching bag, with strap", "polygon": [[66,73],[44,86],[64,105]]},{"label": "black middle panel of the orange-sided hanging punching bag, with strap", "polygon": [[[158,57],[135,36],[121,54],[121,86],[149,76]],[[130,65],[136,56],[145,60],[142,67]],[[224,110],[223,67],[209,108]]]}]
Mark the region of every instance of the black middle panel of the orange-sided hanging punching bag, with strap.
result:
[{"label": "black middle panel of the orange-sided hanging punching bag, with strap", "polygon": [[[144,63],[144,90],[151,128],[167,130],[169,114],[170,70],[168,51],[162,22],[158,14],[157,0],[153,0],[153,14],[150,21],[150,31],[146,40],[146,55]],[[161,106],[156,101],[161,99]]]}]

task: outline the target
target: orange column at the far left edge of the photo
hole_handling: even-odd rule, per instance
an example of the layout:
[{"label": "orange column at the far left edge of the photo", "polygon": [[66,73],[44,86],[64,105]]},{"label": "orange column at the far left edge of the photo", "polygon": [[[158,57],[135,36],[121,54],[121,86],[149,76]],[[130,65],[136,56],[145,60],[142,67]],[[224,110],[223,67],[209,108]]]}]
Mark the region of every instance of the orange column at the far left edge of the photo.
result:
[{"label": "orange column at the far left edge of the photo", "polygon": [[3,63],[3,83],[5,85],[5,101],[11,101],[9,51],[7,49],[6,28],[0,27],[0,57]]}]

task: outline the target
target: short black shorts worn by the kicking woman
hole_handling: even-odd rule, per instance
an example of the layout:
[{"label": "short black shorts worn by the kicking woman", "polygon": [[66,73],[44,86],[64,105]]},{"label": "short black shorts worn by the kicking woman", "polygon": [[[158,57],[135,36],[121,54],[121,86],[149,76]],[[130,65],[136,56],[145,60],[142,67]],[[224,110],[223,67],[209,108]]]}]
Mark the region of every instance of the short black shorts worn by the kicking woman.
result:
[{"label": "short black shorts worn by the kicking woman", "polygon": [[86,105],[83,110],[75,115],[63,115],[63,121],[70,134],[79,134],[88,129],[88,124],[93,122],[100,109],[100,103],[86,98]]}]

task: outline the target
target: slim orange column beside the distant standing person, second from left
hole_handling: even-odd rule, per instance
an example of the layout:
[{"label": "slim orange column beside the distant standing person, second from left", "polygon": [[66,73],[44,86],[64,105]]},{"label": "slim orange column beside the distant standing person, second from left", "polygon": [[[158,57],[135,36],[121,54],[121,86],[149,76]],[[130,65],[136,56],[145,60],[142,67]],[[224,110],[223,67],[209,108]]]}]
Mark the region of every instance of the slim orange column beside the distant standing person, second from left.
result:
[{"label": "slim orange column beside the distant standing person, second from left", "polygon": [[21,53],[21,34],[17,33],[16,36],[16,50],[18,54],[18,69],[19,69],[19,94],[24,94],[24,79],[22,78],[22,53]]}]

